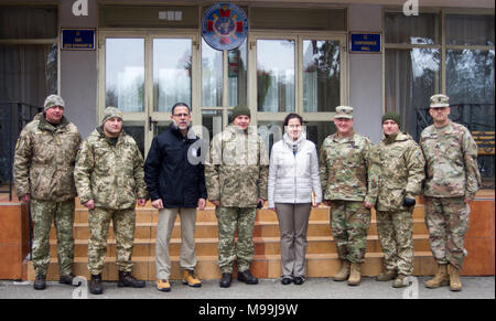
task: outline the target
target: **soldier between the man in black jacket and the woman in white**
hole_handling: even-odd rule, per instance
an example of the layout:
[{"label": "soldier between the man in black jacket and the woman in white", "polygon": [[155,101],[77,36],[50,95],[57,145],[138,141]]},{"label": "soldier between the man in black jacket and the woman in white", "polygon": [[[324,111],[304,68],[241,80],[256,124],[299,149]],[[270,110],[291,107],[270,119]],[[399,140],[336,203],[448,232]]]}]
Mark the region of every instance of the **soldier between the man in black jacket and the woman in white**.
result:
[{"label": "soldier between the man in black jacket and the woman in white", "polygon": [[[250,124],[250,110],[237,106],[233,125],[214,137],[205,181],[218,221],[218,266],[220,287],[230,286],[233,263],[237,258],[238,280],[256,285],[250,274],[254,259],[254,225],[257,204],[267,200],[268,151]],[[235,247],[235,232],[238,243]]]}]

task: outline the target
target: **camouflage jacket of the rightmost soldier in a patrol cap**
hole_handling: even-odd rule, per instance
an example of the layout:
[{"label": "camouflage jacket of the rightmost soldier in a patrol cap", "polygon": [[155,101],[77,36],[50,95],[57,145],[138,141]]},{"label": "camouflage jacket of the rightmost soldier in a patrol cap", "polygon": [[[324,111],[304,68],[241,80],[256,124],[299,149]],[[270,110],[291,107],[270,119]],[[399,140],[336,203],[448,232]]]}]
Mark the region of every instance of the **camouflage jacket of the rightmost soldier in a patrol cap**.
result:
[{"label": "camouflage jacket of the rightmost soldier in a patrol cap", "polygon": [[425,196],[475,196],[481,173],[477,145],[468,129],[451,120],[442,128],[431,125],[422,131],[420,146],[427,162]]}]

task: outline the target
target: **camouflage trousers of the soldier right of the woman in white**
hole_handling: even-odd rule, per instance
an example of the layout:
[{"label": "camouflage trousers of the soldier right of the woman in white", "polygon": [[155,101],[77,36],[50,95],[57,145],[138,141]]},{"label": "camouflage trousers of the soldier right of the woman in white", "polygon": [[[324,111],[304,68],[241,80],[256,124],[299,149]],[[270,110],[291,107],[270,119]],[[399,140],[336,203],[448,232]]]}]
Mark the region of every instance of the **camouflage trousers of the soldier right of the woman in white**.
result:
[{"label": "camouflage trousers of the soldier right of the woman in white", "polygon": [[365,261],[369,226],[370,210],[364,206],[364,202],[331,202],[331,228],[341,260],[355,264]]}]

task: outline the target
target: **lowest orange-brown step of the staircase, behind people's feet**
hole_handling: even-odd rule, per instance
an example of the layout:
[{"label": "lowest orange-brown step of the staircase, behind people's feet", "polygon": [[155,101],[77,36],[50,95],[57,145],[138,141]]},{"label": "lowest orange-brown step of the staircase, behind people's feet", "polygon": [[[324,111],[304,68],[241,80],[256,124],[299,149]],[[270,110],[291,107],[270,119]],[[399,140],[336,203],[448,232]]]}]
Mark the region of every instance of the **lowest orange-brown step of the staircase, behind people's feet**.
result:
[{"label": "lowest orange-brown step of the staircase, behind people's feet", "polygon": [[[133,257],[133,275],[143,280],[155,279],[154,257]],[[171,279],[181,279],[181,268],[179,256],[171,257]],[[28,280],[34,280],[34,269],[31,261],[25,261]],[[74,261],[74,274],[89,279],[87,268],[87,258],[76,258]],[[362,266],[363,276],[377,276],[382,265],[382,254],[366,254],[365,264]],[[414,254],[414,275],[425,276],[433,275],[435,271],[435,261],[430,252],[416,252]],[[341,267],[336,254],[306,254],[306,277],[322,278],[334,276]],[[216,256],[198,256],[196,272],[203,280],[212,280],[220,278],[220,270],[217,266]],[[281,257],[280,255],[256,255],[251,272],[258,278],[279,278],[281,275]],[[236,277],[236,269],[234,276]],[[115,257],[107,257],[103,272],[106,281],[117,280],[117,266]],[[58,264],[53,258],[48,266],[47,280],[58,280]]]}]

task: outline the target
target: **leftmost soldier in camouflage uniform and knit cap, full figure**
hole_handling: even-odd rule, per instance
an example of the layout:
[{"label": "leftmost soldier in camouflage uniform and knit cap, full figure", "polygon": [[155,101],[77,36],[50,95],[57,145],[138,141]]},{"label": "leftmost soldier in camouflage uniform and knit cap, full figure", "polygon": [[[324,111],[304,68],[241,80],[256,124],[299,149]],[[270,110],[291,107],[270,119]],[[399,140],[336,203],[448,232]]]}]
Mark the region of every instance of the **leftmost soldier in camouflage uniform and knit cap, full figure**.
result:
[{"label": "leftmost soldier in camouflage uniform and knit cap, full figure", "polygon": [[64,117],[65,103],[50,95],[44,111],[25,126],[14,158],[14,184],[23,202],[31,202],[34,289],[46,288],[50,228],[55,222],[60,282],[72,285],[74,261],[74,160],[80,143],[76,126]]}]

